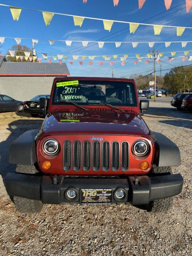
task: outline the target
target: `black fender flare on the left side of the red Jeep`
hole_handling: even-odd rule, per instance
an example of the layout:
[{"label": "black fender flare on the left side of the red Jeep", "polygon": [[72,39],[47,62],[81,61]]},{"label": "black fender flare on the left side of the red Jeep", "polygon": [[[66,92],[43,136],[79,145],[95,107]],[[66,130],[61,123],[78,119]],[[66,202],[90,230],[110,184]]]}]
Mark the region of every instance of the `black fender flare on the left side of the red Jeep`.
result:
[{"label": "black fender flare on the left side of the red Jeep", "polygon": [[30,130],[14,140],[9,148],[10,164],[33,165],[36,163],[36,136],[39,129]]}]

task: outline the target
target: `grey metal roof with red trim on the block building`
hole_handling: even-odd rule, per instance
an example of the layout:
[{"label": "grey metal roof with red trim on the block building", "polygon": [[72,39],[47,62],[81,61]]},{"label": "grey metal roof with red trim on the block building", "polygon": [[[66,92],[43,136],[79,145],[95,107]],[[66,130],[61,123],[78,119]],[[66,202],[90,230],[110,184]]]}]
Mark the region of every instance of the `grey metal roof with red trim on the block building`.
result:
[{"label": "grey metal roof with red trim on the block building", "polygon": [[0,76],[69,76],[66,63],[10,62],[0,57]]}]

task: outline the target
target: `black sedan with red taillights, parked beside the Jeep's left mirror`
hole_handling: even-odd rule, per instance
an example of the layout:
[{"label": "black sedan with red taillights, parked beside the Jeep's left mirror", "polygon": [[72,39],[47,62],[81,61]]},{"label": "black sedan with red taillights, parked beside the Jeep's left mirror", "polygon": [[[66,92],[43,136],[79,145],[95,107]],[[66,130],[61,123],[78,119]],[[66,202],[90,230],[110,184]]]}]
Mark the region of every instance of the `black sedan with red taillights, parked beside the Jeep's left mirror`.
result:
[{"label": "black sedan with red taillights, parked beside the Jeep's left mirror", "polygon": [[39,115],[45,116],[46,109],[40,108],[40,104],[39,104],[40,98],[49,99],[50,95],[49,94],[37,95],[34,98],[32,98],[31,100],[24,101],[23,112],[30,114],[32,117],[38,117]]}]

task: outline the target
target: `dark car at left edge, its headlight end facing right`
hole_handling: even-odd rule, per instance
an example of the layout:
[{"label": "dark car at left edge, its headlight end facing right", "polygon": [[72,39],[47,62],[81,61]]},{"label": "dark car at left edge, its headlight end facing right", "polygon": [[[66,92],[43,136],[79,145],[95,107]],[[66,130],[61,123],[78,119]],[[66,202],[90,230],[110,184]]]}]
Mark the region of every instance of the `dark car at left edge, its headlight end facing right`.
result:
[{"label": "dark car at left edge, its headlight end facing right", "polygon": [[0,94],[0,112],[22,111],[23,101],[15,100],[10,96]]}]

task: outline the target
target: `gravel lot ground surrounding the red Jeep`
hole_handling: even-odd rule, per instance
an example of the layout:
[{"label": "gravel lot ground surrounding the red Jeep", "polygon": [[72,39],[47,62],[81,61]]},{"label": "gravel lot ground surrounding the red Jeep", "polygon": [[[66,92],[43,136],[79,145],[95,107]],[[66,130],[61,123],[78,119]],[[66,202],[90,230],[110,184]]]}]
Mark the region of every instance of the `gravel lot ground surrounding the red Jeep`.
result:
[{"label": "gravel lot ground surrounding the red Jeep", "polygon": [[152,131],[173,140],[181,152],[184,177],[170,212],[152,214],[134,206],[44,205],[39,214],[19,214],[3,179],[15,166],[7,163],[8,148],[21,133],[36,129],[41,118],[0,113],[0,255],[191,255],[192,251],[192,114],[153,103],[144,119]]}]

